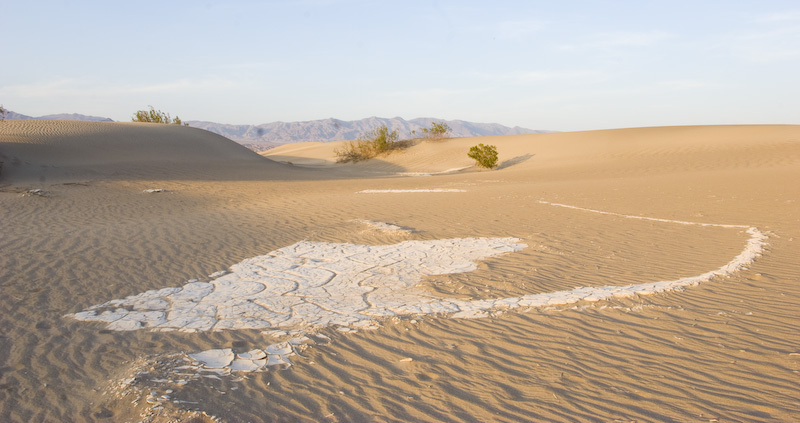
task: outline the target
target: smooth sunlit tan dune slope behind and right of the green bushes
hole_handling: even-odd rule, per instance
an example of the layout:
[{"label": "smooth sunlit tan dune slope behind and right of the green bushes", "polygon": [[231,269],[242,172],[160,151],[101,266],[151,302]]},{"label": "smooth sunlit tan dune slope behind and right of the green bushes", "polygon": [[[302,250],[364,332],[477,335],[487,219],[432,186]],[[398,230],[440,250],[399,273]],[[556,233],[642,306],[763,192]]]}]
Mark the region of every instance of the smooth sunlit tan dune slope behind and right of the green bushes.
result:
[{"label": "smooth sunlit tan dune slope behind and right of the green bushes", "polygon": [[429,175],[474,166],[467,152],[482,143],[498,147],[501,170],[552,170],[559,176],[576,177],[609,166],[620,171],[635,167],[645,172],[647,168],[675,172],[792,163],[797,159],[797,132],[793,125],[741,125],[468,137],[422,141],[407,150],[348,166],[336,164],[335,151],[345,142],[287,144],[261,154],[299,165]]}]

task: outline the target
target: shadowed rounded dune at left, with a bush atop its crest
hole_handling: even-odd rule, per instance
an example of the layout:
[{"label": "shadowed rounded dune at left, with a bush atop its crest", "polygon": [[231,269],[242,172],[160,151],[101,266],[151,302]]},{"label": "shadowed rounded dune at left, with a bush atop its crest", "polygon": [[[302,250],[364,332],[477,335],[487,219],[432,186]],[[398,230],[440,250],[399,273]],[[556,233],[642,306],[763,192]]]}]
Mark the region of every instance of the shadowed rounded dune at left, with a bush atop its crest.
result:
[{"label": "shadowed rounded dune at left, with a bush atop its crest", "polygon": [[[148,123],[12,120],[0,124],[3,174],[20,178],[105,175],[170,165],[264,162],[247,148],[200,129]],[[173,168],[173,171],[178,170]]]}]

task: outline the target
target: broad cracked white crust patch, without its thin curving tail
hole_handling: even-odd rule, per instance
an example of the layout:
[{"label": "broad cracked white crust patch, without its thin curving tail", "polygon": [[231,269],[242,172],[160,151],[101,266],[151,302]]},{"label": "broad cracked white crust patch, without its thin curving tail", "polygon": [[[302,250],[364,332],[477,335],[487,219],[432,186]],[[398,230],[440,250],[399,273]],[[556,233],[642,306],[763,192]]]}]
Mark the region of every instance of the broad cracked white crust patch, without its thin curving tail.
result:
[{"label": "broad cracked white crust patch, without its thin curving tail", "polygon": [[311,330],[377,317],[458,312],[415,287],[425,275],[469,272],[476,260],[519,251],[517,238],[459,238],[367,246],[301,241],[246,259],[211,282],[143,292],[70,315],[112,330]]}]

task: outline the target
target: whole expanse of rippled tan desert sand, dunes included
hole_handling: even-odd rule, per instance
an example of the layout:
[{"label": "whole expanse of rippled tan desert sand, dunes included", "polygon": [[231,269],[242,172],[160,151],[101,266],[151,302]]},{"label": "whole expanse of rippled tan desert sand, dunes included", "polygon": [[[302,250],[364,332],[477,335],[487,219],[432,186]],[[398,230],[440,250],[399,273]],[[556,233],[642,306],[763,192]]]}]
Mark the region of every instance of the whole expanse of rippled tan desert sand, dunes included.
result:
[{"label": "whole expanse of rippled tan desert sand, dunes included", "polygon": [[[499,169],[472,167],[479,142]],[[1,122],[0,421],[800,420],[800,126],[426,141],[347,165],[335,147],[262,157],[187,127]],[[347,314],[352,286],[308,281],[344,278],[349,249],[400,288]],[[284,274],[289,294],[256,292]],[[234,279],[225,292],[255,291],[223,310]],[[212,286],[186,300],[213,308],[203,326],[176,295]],[[262,307],[289,297],[312,300]],[[452,304],[491,305],[428,310]],[[102,312],[117,317],[76,317]],[[270,346],[285,362],[231,370]],[[208,351],[225,363],[189,355]]]}]

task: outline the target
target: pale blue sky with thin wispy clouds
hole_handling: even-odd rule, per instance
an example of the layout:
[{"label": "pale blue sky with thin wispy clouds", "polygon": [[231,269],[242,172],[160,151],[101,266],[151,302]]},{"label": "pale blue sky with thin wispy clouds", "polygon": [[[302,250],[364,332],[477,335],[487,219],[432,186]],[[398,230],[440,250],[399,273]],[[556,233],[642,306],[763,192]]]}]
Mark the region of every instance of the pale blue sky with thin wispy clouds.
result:
[{"label": "pale blue sky with thin wispy clouds", "polygon": [[17,0],[0,35],[30,116],[800,124],[797,0]]}]

